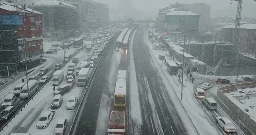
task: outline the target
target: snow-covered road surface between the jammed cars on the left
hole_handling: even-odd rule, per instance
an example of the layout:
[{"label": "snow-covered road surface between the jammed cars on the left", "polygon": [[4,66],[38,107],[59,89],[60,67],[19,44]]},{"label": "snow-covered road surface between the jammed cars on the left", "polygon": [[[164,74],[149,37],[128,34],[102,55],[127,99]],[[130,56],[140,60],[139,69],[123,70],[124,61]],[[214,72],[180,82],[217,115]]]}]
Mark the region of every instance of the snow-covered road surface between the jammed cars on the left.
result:
[{"label": "snow-covered road surface between the jammed cars on the left", "polygon": [[[82,62],[84,56],[86,56],[87,53],[85,50],[82,50],[76,57],[79,58],[78,62]],[[69,63],[72,61],[70,60]],[[69,64],[68,63],[68,64]],[[63,81],[59,84],[59,86],[62,86],[66,84],[66,75],[67,75],[67,66],[68,64],[63,67],[64,71],[64,77]],[[77,78],[77,77],[76,77]],[[59,87],[56,86],[56,89]],[[66,110],[65,106],[67,103],[67,100],[71,95],[77,95],[77,97],[81,96],[82,90],[84,87],[78,87],[77,83],[74,85],[72,89],[68,93],[65,93],[63,95],[63,102],[61,104],[61,107],[58,109],[51,109],[51,102],[54,97],[53,93],[53,87],[51,81],[46,84],[45,88],[43,88],[38,95],[34,97],[34,99],[31,100],[30,103],[28,103],[28,106],[22,110],[23,115],[18,115],[18,119],[14,119],[16,121],[12,121],[12,123],[15,123],[13,126],[8,125],[8,129],[5,129],[3,131],[4,134],[8,133],[31,133],[32,135],[37,134],[37,135],[50,135],[53,134],[54,126],[58,122],[60,118],[67,118],[68,122],[71,125],[71,119],[72,116],[74,117],[75,110],[77,110],[77,107],[75,110]],[[24,111],[26,111],[24,113]],[[44,111],[55,111],[55,115],[53,116],[53,119],[51,120],[49,126],[45,129],[37,129],[36,124],[39,119],[39,116],[41,113]]]}]

